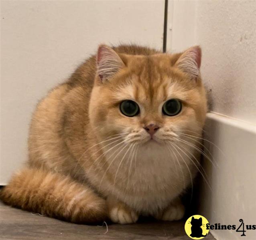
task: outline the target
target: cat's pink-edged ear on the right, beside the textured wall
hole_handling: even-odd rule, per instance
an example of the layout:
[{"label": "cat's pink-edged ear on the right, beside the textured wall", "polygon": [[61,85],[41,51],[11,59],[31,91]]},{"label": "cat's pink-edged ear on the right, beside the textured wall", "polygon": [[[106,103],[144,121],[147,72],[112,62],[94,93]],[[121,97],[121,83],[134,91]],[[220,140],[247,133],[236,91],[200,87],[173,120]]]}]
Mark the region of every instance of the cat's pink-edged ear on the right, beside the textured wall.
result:
[{"label": "cat's pink-edged ear on the right, beside the textured wall", "polygon": [[201,48],[199,46],[191,47],[181,54],[175,66],[196,80],[199,76],[201,57]]}]

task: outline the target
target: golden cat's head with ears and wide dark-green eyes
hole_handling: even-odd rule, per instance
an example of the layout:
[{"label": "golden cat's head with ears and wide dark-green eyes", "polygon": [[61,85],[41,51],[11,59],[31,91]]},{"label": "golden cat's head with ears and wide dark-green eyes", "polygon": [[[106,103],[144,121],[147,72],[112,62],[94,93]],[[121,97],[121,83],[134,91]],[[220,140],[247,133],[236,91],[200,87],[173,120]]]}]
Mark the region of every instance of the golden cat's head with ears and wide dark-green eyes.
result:
[{"label": "golden cat's head with ears and wide dark-green eyes", "polygon": [[207,101],[199,46],[146,56],[100,45],[96,64],[89,117],[100,140],[161,145],[182,131],[201,133]]}]

